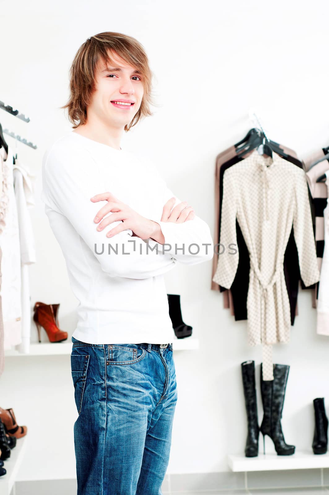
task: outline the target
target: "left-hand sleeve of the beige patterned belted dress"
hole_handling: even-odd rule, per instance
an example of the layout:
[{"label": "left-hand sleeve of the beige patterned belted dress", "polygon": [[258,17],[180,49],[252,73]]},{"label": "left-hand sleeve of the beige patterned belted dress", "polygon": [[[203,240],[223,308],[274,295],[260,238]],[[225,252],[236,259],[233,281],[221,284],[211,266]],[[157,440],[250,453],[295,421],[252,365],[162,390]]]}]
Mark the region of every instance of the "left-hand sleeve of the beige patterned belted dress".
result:
[{"label": "left-hand sleeve of the beige patterned belted dress", "polygon": [[236,240],[237,202],[234,188],[233,168],[223,175],[223,200],[221,204],[221,227],[219,256],[213,282],[230,289],[239,263],[239,250]]}]

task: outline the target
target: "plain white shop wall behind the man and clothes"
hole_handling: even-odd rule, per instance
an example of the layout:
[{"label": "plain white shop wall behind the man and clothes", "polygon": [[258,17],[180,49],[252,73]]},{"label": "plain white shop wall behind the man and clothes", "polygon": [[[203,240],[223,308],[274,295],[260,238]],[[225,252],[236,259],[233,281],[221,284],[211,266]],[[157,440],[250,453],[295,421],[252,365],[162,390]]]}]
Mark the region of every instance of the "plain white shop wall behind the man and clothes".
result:
[{"label": "plain white shop wall behind the man and clothes", "polygon": [[[60,302],[60,327],[70,334],[74,330],[77,301],[40,200],[41,160],[47,145],[69,128],[59,106],[68,95],[71,60],[87,37],[117,31],[144,45],[161,106],[124,135],[122,144],[152,157],[170,188],[213,232],[216,155],[253,126],[251,106],[270,138],[300,157],[329,145],[328,19],[329,4],[320,0],[304,5],[260,0],[2,3],[0,100],[31,122],[3,111],[0,122],[38,145],[37,150],[18,148],[37,174],[31,217],[38,261],[30,270],[31,304]],[[181,295],[183,319],[201,343],[198,351],[175,354],[179,397],[168,473],[228,470],[226,454],[243,451],[246,438],[242,361],[255,359],[259,386],[261,347],[248,347],[246,322],[235,322],[223,309],[222,296],[210,290],[211,270],[208,262],[179,266],[166,275],[167,292]],[[312,443],[313,398],[329,400],[329,339],[316,335],[311,299],[310,291],[299,294],[291,342],[274,347],[274,362],[291,365],[282,427],[297,449]],[[37,340],[34,324],[32,339]],[[261,404],[259,388],[258,399]],[[75,475],[77,414],[69,356],[6,358],[0,405],[13,407],[18,422],[29,428],[20,479]]]}]

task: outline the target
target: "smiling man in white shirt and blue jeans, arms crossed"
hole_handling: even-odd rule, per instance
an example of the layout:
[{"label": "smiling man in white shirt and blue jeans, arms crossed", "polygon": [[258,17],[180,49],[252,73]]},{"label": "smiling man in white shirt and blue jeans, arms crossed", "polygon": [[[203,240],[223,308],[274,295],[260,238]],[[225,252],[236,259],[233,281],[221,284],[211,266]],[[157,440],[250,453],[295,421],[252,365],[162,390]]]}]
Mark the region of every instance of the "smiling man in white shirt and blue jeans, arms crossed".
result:
[{"label": "smiling man in white shirt and blue jeans, arms crossed", "polygon": [[151,75],[134,38],[88,39],[70,70],[74,130],[43,159],[45,211],[79,300],[78,495],[162,493],[177,401],[164,273],[214,254],[208,225],[120,148],[123,131],[152,115]]}]

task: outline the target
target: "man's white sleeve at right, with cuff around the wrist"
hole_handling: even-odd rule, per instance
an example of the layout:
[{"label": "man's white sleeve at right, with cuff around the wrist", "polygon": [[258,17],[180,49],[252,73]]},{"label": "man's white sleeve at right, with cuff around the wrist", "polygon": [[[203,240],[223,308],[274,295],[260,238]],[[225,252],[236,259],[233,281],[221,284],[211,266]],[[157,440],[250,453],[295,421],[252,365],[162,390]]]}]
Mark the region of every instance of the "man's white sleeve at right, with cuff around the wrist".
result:
[{"label": "man's white sleeve at right, with cuff around the wrist", "polygon": [[[181,199],[167,187],[160,174],[157,171],[155,173],[163,206],[170,198],[175,197],[176,201],[172,207],[174,208],[182,202]],[[164,244],[157,243],[154,239],[149,240],[149,244],[157,246],[159,251],[169,253],[179,263],[185,265],[196,265],[213,258],[214,243],[209,225],[197,215],[193,220],[183,223],[163,222],[159,221],[159,218],[150,218],[150,220],[160,225],[164,235]]]}]

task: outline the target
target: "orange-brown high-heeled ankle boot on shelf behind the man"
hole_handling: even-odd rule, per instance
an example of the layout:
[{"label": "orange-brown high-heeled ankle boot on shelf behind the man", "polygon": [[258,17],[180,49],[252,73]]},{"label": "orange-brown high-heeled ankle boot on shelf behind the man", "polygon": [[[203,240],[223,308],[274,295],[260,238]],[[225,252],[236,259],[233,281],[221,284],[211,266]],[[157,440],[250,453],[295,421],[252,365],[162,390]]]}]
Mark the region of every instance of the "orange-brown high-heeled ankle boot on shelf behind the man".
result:
[{"label": "orange-brown high-heeled ankle boot on shelf behind the man", "polygon": [[67,332],[58,328],[58,307],[59,304],[45,304],[39,301],[35,303],[33,319],[38,328],[39,342],[41,342],[40,327],[46,330],[50,342],[61,342],[67,339]]}]

